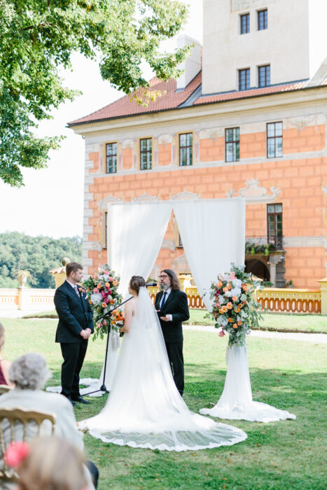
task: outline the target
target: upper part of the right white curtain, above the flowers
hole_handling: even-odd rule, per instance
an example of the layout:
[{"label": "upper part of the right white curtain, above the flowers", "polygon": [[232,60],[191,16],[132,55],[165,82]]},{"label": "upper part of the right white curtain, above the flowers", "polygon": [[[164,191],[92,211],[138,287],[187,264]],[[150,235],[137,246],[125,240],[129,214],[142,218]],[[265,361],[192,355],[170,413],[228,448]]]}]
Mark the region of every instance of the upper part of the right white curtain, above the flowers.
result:
[{"label": "upper part of the right white curtain, above the flowers", "polygon": [[245,200],[176,201],[174,214],[190,272],[211,310],[211,282],[230,270],[230,262],[244,264]]}]

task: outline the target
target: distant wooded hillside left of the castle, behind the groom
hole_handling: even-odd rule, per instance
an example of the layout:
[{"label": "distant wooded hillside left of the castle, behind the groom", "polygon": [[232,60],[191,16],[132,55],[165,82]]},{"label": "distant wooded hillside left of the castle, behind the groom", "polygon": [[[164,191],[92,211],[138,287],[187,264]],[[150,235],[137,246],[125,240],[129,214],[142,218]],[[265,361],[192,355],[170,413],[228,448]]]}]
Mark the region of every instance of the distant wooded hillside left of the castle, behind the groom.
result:
[{"label": "distant wooded hillside left of the castle, behind the groom", "polygon": [[55,279],[50,269],[60,267],[60,261],[68,256],[81,262],[82,246],[80,237],[53,239],[50,237],[29,237],[23,233],[6,232],[0,234],[0,287],[17,288],[14,279],[18,270],[29,269],[31,288],[54,288]]}]

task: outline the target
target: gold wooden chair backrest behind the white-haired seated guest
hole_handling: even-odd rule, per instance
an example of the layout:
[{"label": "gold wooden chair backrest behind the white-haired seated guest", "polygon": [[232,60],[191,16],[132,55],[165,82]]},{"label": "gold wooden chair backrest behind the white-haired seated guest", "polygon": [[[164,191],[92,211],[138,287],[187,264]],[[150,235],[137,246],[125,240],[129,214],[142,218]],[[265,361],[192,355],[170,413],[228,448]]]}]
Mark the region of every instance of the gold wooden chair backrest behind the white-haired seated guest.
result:
[{"label": "gold wooden chair backrest behind the white-haired seated guest", "polygon": [[[7,424],[6,424],[7,421]],[[17,481],[17,474],[13,468],[9,468],[4,454],[6,449],[12,442],[27,442],[40,435],[41,425],[43,422],[50,422],[50,430],[47,433],[53,435],[55,433],[56,415],[37,410],[29,410],[24,408],[0,408],[0,451],[2,468],[0,467],[0,478],[7,481]],[[34,433],[28,434],[27,428],[29,424],[33,424]],[[22,428],[22,430],[18,430]],[[35,430],[36,428],[36,430]],[[45,435],[43,433],[43,435]]]}]

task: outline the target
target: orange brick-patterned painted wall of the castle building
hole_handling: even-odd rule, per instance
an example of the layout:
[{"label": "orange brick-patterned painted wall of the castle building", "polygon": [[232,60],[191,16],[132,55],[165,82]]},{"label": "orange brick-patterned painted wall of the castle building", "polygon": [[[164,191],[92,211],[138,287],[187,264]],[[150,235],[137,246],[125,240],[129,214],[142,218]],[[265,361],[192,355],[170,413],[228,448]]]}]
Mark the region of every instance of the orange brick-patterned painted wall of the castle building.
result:
[{"label": "orange brick-patterned painted wall of the castle building", "polygon": [[[314,153],[326,147],[326,125],[304,127],[302,129],[288,129],[283,131],[283,155],[297,153],[299,158],[267,159],[265,132],[242,133],[240,137],[240,158],[263,158],[263,163],[235,162],[235,165],[205,167],[206,162],[220,161],[225,155],[225,138],[200,139],[200,163],[203,167],[176,167],[163,173],[148,171],[137,174],[106,174],[95,177],[89,186],[89,193],[93,200],[89,202],[93,216],[88,219],[92,232],[88,235],[89,241],[102,243],[101,250],[89,250],[88,258],[92,265],[88,266],[91,273],[95,267],[107,260],[107,251],[104,237],[104,212],[98,202],[114,196],[117,200],[131,201],[142,195],[158,197],[160,200],[169,200],[178,193],[187,190],[188,193],[200,195],[201,198],[225,198],[230,190],[235,195],[244,188],[249,179],[257,179],[260,188],[267,190],[270,195],[271,188],[277,188],[279,195],[272,202],[283,204],[283,235],[288,237],[309,237],[313,246],[284,246],[285,278],[292,280],[297,288],[317,288],[317,281],[326,276],[326,251],[323,246],[317,246],[314,237],[326,235],[326,201],[327,196],[322,188],[327,183],[327,158],[314,158]],[[102,159],[104,147],[98,153],[92,152],[89,160],[94,167],[90,174],[97,172]],[[311,153],[312,158],[303,158],[300,153]],[[172,144],[158,144],[158,167],[166,167],[173,158]],[[132,148],[123,149],[123,169],[133,165]],[[232,225],[232,223],[231,223]],[[228,239],[228,230],[222,230],[222,235]],[[246,204],[246,236],[263,237],[267,235],[267,203],[250,202]],[[157,265],[160,268],[172,267],[172,261],[183,254],[183,248],[178,245],[178,232],[174,219],[169,223],[165,241],[170,246],[162,248],[158,256]]]}]

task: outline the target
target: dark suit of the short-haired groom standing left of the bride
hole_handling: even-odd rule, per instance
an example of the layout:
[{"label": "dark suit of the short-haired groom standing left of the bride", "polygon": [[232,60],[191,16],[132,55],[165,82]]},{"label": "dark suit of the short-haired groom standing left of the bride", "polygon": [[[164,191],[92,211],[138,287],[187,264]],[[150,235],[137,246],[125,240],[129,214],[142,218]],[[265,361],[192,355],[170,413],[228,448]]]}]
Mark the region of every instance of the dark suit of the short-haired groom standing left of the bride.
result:
[{"label": "dark suit of the short-haired groom standing left of the bride", "polygon": [[[81,286],[78,286],[81,288]],[[78,400],[79,373],[81,371],[88,339],[83,339],[80,332],[90,328],[94,332],[92,310],[90,304],[80,292],[76,294],[68,281],[55,291],[55,309],[59,316],[59,323],[55,335],[55,342],[60,342],[62,349],[62,395]]]}]

